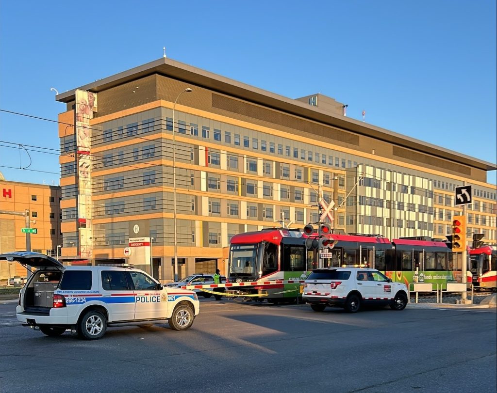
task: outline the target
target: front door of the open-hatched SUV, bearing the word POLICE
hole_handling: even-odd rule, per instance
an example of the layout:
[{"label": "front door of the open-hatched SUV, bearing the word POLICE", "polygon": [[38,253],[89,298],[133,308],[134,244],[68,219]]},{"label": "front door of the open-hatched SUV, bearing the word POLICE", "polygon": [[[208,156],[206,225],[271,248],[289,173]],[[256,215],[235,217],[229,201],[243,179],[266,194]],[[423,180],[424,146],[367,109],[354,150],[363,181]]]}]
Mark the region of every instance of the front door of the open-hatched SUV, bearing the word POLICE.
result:
[{"label": "front door of the open-hatched SUV, bearing the word POLICE", "polygon": [[130,271],[135,291],[135,320],[165,319],[167,299],[161,299],[157,283],[140,271]]}]

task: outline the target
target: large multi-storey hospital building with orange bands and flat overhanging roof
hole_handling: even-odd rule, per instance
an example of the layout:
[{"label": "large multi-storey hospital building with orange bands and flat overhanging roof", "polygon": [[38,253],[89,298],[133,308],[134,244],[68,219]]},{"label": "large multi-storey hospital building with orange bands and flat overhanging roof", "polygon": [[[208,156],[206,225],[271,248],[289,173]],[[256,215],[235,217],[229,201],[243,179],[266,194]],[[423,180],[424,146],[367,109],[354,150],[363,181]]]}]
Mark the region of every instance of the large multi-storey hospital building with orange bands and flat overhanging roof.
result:
[{"label": "large multi-storey hospital building with orange bands and flat overhanging roof", "polygon": [[444,239],[465,182],[469,234],[496,242],[496,164],[350,119],[321,94],[289,99],[163,58],[57,101],[66,261],[152,259],[167,281],[176,228],[179,276],[212,271],[233,235],[316,222],[321,198],[336,231]]}]

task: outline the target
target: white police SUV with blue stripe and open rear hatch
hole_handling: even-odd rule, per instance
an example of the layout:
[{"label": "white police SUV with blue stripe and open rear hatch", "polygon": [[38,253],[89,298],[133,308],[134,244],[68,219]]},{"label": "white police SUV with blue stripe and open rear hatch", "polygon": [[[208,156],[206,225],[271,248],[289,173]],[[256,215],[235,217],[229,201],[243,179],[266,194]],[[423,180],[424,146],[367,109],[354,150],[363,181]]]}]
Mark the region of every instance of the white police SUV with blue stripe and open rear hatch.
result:
[{"label": "white police SUV with blue stripe and open rear hatch", "polygon": [[164,323],[186,330],[199,313],[195,292],[165,288],[131,266],[64,266],[32,252],[1,254],[0,261],[36,268],[19,293],[17,320],[49,336],[71,329],[94,340],[107,327]]}]

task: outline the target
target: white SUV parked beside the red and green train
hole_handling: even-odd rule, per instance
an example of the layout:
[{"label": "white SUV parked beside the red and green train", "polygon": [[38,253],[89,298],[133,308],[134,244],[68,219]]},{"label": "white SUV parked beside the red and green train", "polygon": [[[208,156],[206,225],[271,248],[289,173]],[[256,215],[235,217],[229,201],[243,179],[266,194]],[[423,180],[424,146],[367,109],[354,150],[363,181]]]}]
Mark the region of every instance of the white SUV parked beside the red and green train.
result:
[{"label": "white SUV parked beside the red and green train", "polygon": [[329,267],[316,269],[304,282],[302,299],[314,311],[326,306],[343,307],[349,313],[359,311],[362,304],[389,305],[404,310],[407,287],[376,269],[363,267]]}]

